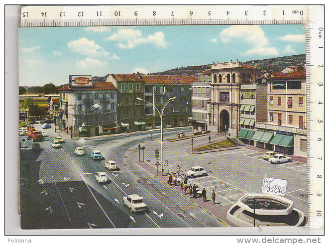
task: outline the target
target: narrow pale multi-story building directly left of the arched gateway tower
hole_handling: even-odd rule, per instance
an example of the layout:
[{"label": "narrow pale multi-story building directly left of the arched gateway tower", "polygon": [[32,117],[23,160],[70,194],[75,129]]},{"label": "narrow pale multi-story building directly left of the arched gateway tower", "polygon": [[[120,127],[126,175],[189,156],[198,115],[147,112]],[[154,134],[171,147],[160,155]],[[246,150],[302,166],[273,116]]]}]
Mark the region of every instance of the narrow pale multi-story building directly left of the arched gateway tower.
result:
[{"label": "narrow pale multi-story building directly left of the arched gateway tower", "polygon": [[198,81],[192,83],[192,115],[189,118],[193,131],[208,130],[207,101],[211,101],[212,70],[197,74]]}]

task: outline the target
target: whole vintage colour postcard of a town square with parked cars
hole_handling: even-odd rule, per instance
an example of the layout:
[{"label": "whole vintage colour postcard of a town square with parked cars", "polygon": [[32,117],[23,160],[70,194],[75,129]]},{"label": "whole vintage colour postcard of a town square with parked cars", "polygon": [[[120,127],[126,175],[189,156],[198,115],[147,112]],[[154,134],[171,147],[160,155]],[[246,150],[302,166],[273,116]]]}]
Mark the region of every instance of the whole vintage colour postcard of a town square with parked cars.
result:
[{"label": "whole vintage colour postcard of a town square with parked cars", "polygon": [[21,229],[309,227],[305,24],[18,34]]}]

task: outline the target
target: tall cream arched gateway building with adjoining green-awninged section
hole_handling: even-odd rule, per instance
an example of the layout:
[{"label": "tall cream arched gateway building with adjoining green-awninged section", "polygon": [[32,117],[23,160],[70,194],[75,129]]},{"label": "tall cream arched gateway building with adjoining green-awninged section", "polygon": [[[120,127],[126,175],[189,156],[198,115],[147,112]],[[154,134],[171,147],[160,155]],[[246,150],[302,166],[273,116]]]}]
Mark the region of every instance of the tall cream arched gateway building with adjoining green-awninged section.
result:
[{"label": "tall cream arched gateway building with adjoining green-awninged section", "polygon": [[212,76],[208,129],[228,131],[235,137],[240,125],[253,127],[256,120],[256,83],[261,79],[261,70],[239,61],[218,63],[212,66]]}]

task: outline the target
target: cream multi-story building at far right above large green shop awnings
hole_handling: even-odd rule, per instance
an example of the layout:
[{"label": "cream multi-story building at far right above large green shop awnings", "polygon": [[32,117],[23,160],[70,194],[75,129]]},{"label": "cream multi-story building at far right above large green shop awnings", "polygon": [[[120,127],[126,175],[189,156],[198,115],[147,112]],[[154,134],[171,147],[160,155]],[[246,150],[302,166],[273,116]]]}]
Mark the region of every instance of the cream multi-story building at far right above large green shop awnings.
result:
[{"label": "cream multi-story building at far right above large green shop awnings", "polygon": [[[278,152],[307,156],[305,69],[270,77],[268,120],[256,123],[256,145]],[[261,138],[266,140],[260,140]]]}]

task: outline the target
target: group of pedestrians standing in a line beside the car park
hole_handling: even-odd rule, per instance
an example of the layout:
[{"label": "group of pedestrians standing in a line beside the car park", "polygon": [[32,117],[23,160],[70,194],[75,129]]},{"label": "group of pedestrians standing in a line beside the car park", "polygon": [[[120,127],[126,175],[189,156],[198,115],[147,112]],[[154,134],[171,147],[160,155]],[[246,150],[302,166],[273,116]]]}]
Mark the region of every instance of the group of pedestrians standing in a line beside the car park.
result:
[{"label": "group of pedestrians standing in a line beside the car park", "polygon": [[[187,195],[187,190],[189,189],[190,198],[192,198],[192,195],[193,195],[193,198],[196,199],[197,198],[197,194],[199,192],[199,187],[196,184],[193,184],[193,186],[192,186],[192,184],[190,184],[188,186],[187,185],[188,177],[187,177],[186,174],[184,175],[184,177],[182,177],[182,178],[179,179],[179,183],[178,183],[177,178],[180,176],[179,173],[180,173],[180,166],[178,165],[177,166],[177,176],[176,176],[176,173],[170,174],[169,175],[169,179],[168,179],[168,184],[169,185],[174,184],[174,186],[176,186],[177,184],[179,184],[181,186],[181,190],[184,189],[185,195]],[[199,194],[202,195],[203,201],[206,202],[207,201],[207,191],[206,191],[206,188],[204,188],[201,193],[199,192]],[[213,204],[215,204],[215,199],[216,199],[216,193],[215,193],[215,190],[213,190],[213,193],[212,193]]]}]

